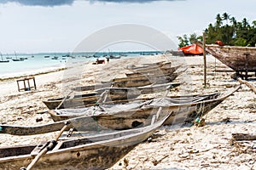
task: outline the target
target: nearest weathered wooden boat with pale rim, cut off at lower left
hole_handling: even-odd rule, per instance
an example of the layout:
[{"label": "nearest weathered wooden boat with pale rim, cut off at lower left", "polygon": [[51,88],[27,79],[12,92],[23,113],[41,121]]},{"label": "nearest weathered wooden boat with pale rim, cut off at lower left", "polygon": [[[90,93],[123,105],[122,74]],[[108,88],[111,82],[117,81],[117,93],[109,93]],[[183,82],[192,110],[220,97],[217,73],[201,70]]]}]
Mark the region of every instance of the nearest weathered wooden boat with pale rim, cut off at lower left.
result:
[{"label": "nearest weathered wooden boat with pale rim, cut off at lower left", "polygon": [[[34,165],[38,170],[106,169],[148,139],[166,117],[147,127],[111,133],[99,133],[75,139],[54,141],[54,147]],[[0,148],[0,169],[27,167],[48,144],[18,145]]]}]

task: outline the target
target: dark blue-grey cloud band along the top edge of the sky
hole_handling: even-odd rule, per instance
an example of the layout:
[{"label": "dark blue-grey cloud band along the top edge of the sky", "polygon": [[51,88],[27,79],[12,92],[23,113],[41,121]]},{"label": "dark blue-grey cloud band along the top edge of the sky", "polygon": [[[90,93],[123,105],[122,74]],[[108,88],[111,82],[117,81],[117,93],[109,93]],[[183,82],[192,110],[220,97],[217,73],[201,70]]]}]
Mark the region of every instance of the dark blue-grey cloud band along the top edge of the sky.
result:
[{"label": "dark blue-grey cloud band along the top edge of the sky", "polygon": [[[76,0],[1,0],[0,3],[20,3],[27,6],[58,6],[58,5],[71,5]],[[82,0],[80,0],[82,1]],[[84,0],[90,3],[151,3],[161,0]],[[183,1],[183,0],[165,0],[165,1]]]}]

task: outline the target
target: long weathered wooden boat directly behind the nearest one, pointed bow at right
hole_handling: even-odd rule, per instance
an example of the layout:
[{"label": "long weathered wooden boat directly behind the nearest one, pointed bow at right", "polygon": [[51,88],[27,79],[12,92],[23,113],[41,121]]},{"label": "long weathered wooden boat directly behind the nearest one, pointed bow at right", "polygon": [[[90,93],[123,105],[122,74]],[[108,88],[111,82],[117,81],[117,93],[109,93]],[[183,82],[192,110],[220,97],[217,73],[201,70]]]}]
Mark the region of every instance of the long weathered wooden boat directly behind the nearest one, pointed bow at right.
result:
[{"label": "long weathered wooden boat directly behind the nearest one, pointed bow at right", "polygon": [[[227,94],[204,94],[193,96],[176,96],[151,100],[137,100],[120,105],[101,105],[100,107],[86,107],[74,110],[48,111],[55,122],[67,120],[78,116],[89,116],[87,123],[90,127],[125,129],[147,125],[153,113],[162,107],[164,115],[171,113],[165,122],[172,125],[179,122],[191,122],[197,116],[203,116],[220,104],[224,99],[234,94],[240,86]],[[201,111],[203,110],[203,111]],[[93,113],[93,115],[91,115]],[[149,118],[148,118],[149,117]],[[90,130],[90,129],[87,129]]]}]

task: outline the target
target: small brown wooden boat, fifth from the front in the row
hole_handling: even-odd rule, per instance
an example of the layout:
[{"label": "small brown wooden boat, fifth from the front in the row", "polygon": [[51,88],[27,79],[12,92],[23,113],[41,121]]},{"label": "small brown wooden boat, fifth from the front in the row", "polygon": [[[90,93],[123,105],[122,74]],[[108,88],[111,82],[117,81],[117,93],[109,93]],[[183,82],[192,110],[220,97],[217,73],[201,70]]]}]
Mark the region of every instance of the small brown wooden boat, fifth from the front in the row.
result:
[{"label": "small brown wooden boat, fifth from the front in the row", "polygon": [[135,71],[132,73],[125,73],[126,77],[136,77],[136,76],[154,76],[154,75],[169,75],[172,74],[174,71],[181,65],[177,65],[175,67],[160,67],[155,69],[148,69],[147,71]]}]

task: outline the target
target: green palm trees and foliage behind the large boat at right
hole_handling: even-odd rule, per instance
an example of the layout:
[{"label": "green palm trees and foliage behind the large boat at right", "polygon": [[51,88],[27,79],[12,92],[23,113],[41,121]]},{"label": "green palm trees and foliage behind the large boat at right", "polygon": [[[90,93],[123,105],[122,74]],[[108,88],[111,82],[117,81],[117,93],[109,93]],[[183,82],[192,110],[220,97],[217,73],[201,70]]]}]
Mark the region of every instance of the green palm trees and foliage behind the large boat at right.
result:
[{"label": "green palm trees and foliage behind the large boat at right", "polygon": [[[226,45],[254,47],[256,44],[256,20],[253,20],[250,25],[246,18],[237,21],[235,17],[231,17],[227,13],[217,14],[215,23],[209,24],[205,32],[207,43],[220,40]],[[191,43],[187,35],[177,38],[180,42],[179,47]],[[201,37],[196,38],[201,39]]]}]

